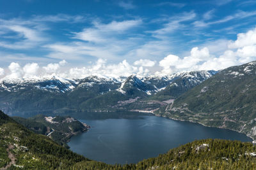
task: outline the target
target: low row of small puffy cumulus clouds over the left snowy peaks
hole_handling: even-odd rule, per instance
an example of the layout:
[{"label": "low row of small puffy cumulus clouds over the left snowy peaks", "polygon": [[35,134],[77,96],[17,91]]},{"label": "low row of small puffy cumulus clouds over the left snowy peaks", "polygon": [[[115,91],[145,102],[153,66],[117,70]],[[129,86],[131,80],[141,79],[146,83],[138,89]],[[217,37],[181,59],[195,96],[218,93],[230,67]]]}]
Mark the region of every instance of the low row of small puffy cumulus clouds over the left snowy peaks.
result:
[{"label": "low row of small puffy cumulus clouds over the left snowy peaks", "polygon": [[[146,66],[153,66],[155,62],[146,60]],[[118,78],[120,76],[130,76],[137,74],[137,76],[148,76],[150,71],[143,66],[134,66],[129,64],[127,60],[123,60],[117,64],[108,64],[106,59],[98,59],[87,67],[72,67],[70,69],[62,69],[67,62],[61,60],[58,63],[49,63],[46,66],[39,66],[38,63],[28,63],[25,66],[20,66],[16,62],[12,62],[8,69],[10,74],[4,78],[29,78],[33,76],[61,76],[63,78],[84,78],[86,76],[100,76]],[[0,68],[0,76],[4,74],[4,69]]]}]

